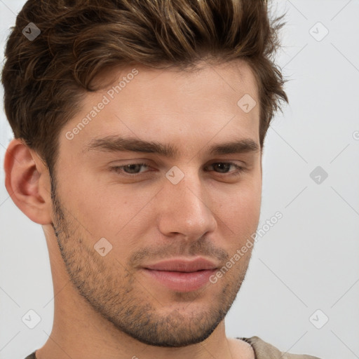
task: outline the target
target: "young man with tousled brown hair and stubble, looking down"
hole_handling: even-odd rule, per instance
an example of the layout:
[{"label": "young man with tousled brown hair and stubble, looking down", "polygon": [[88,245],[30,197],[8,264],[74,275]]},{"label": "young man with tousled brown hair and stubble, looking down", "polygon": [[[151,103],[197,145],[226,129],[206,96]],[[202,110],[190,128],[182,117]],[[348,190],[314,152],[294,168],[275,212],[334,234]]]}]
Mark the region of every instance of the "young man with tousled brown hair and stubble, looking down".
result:
[{"label": "young man with tousled brown hair and stubble, looking down", "polygon": [[6,189],[43,228],[55,293],[27,358],[314,358],[224,330],[287,101],[278,20],[262,0],[27,1],[2,74]]}]

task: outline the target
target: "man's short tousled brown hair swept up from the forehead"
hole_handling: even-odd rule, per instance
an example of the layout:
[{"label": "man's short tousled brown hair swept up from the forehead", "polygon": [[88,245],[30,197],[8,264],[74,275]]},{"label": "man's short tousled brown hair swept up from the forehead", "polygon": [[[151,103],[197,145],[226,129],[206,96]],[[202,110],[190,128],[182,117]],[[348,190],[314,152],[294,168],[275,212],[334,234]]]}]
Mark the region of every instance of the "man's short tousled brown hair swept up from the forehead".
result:
[{"label": "man's short tousled brown hair swept up from the forehead", "polygon": [[[28,0],[6,44],[6,116],[51,174],[60,130],[104,69],[243,59],[257,81],[263,147],[280,100],[288,102],[273,62],[282,18],[269,19],[266,0]],[[33,41],[22,33],[29,22],[41,30]]]}]

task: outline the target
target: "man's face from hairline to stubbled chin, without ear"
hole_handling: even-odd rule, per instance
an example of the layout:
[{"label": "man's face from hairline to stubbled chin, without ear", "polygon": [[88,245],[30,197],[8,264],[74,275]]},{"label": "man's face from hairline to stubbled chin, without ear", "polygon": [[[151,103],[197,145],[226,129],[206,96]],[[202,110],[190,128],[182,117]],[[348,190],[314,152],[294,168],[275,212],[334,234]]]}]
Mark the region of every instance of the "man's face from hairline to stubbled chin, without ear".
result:
[{"label": "man's face from hairline to stubbled chin, without ear", "polygon": [[[189,73],[135,68],[107,74],[126,85],[89,93],[62,129],[53,224],[69,278],[97,313],[143,343],[185,346],[224,319],[248,268],[251,249],[233,257],[259,221],[257,86],[243,62]],[[257,102],[249,112],[237,104],[246,94]],[[115,151],[120,141],[97,141],[104,137],[174,154]],[[210,151],[243,140],[258,150]],[[192,266],[196,259],[210,264]]]}]

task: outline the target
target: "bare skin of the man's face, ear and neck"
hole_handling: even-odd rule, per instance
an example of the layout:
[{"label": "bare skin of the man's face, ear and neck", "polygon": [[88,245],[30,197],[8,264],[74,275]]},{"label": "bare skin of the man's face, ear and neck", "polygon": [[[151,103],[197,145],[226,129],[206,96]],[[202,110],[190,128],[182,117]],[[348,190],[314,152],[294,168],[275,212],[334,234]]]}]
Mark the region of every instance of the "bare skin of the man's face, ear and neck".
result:
[{"label": "bare skin of the man's face, ear and neck", "polygon": [[[135,68],[135,79],[68,140],[65,134],[111,86],[86,94],[79,114],[59,134],[56,181],[21,140],[8,146],[6,189],[41,224],[53,276],[53,329],[36,357],[255,358],[249,344],[227,338],[224,328],[252,249],[217,283],[187,293],[170,290],[141,269],[194,256],[221,268],[255,233],[262,194],[255,77],[239,60],[203,63],[200,71],[186,73]],[[118,83],[131,69],[112,69],[98,81]],[[237,105],[245,94],[257,102],[248,114]],[[107,135],[166,142],[179,154],[84,151],[90,140]],[[211,144],[243,138],[259,151],[208,152]],[[149,167],[133,170],[137,177],[111,170],[141,162]],[[245,172],[230,176],[233,166],[211,166],[228,162]],[[178,184],[165,177],[173,166],[184,173]],[[112,245],[104,257],[94,250],[100,238]]]}]

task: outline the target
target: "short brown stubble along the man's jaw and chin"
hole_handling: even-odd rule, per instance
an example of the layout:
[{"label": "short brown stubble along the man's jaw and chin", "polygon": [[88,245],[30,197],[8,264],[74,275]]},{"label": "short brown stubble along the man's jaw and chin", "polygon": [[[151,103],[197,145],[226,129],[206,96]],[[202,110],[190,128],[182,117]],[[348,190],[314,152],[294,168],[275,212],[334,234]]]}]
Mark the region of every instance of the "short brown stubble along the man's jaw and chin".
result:
[{"label": "short brown stubble along the man's jaw and chin", "polygon": [[[226,316],[245,279],[250,255],[242,258],[238,267],[231,269],[218,283],[208,283],[201,292],[172,293],[174,309],[167,309],[135,277],[128,264],[116,258],[101,257],[86,238],[86,229],[60,202],[56,181],[51,177],[53,199],[53,230],[69,279],[93,310],[116,329],[151,346],[182,347],[207,339]],[[67,215],[68,213],[68,215]],[[120,239],[121,240],[121,239]],[[193,248],[203,242],[192,243]],[[201,251],[203,254],[203,251]],[[210,252],[210,250],[204,251]],[[132,258],[138,258],[135,253]],[[221,257],[222,255],[222,257]],[[144,256],[142,256],[144,257]],[[229,257],[220,252],[218,257]],[[151,256],[149,257],[151,258]],[[224,284],[225,283],[225,284]],[[198,306],[196,297],[203,295],[212,285],[222,286],[217,294],[209,294],[208,306]],[[198,309],[200,308],[200,309]],[[165,311],[165,314],[161,313]]]}]

